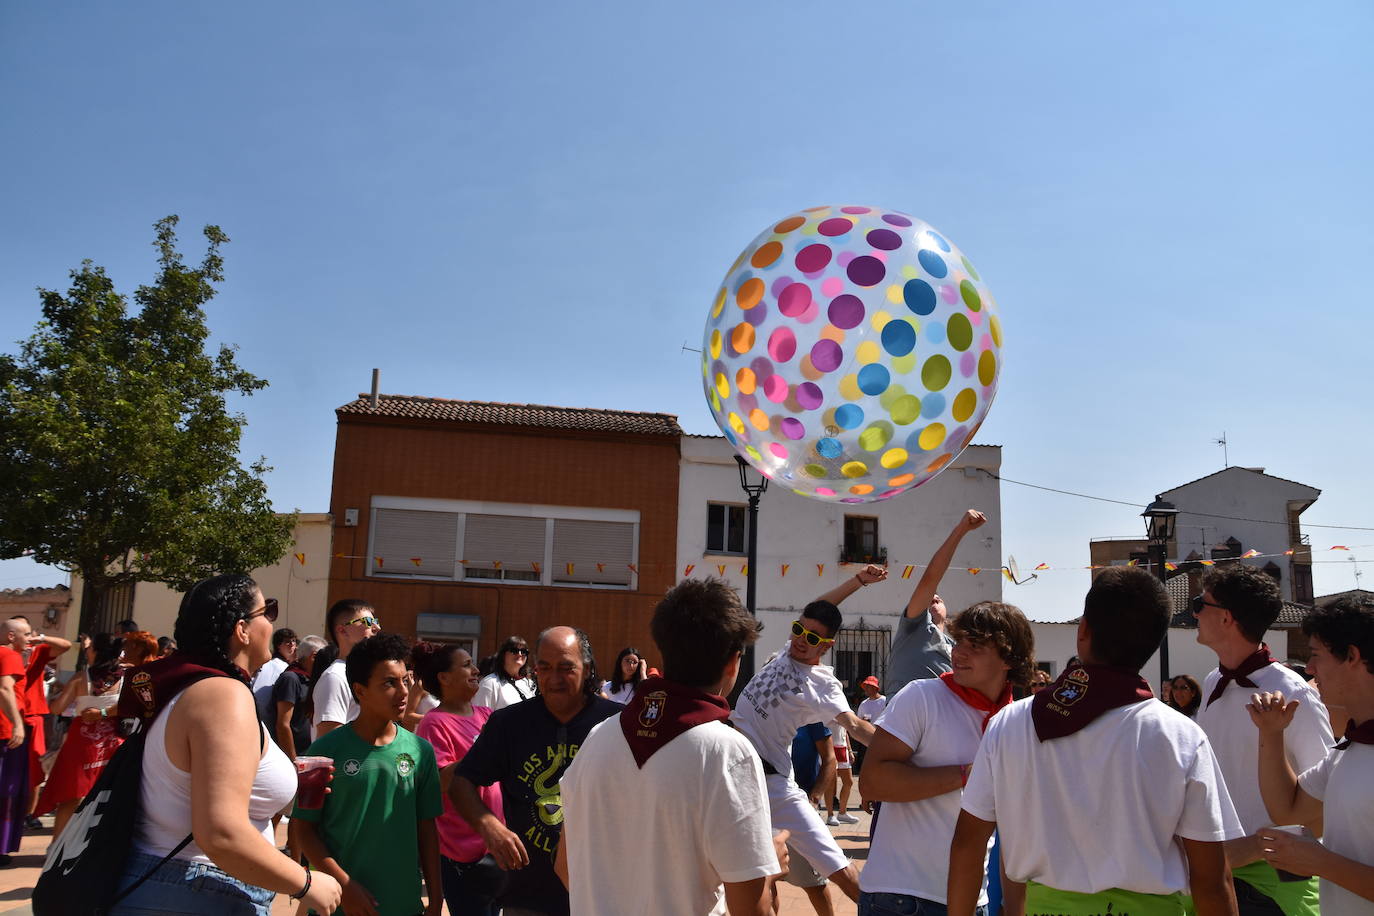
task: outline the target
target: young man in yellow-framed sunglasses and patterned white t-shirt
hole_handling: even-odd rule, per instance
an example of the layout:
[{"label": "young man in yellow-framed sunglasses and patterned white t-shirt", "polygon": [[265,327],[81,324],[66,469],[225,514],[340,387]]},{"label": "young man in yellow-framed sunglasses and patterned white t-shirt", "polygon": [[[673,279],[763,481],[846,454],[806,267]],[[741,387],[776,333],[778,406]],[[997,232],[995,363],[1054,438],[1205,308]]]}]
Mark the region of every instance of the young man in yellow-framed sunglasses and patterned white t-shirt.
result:
[{"label": "young man in yellow-framed sunglasses and patterned white t-shirt", "polygon": [[786,650],[753,676],[731,720],[763,758],[774,829],[790,831],[791,847],[856,901],[859,872],[791,770],[791,740],[802,725],[834,722],[863,744],[872,739],[872,722],[849,710],[834,672],[820,663],[834,645],[841,622],[840,608],[824,599],[802,608],[801,618],[791,623]]}]

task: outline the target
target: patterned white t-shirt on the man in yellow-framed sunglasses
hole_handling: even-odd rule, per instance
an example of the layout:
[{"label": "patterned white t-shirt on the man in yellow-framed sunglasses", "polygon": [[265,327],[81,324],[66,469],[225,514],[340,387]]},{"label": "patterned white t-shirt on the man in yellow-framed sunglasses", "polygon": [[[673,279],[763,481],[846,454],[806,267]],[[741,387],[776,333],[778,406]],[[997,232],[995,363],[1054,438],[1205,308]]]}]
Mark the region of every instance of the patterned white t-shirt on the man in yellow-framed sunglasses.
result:
[{"label": "patterned white t-shirt on the man in yellow-framed sunglasses", "polygon": [[848,711],[849,702],[833,669],[802,665],[783,648],[750,678],[730,718],[760,757],[782,776],[791,776],[797,729],[812,722],[829,725]]}]

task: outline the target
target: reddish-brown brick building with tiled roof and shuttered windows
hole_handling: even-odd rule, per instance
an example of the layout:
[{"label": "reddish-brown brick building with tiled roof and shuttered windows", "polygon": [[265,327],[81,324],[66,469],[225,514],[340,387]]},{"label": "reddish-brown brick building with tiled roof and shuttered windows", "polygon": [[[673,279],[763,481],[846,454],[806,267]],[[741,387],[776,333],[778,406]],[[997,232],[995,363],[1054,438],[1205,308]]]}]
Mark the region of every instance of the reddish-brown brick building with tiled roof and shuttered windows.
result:
[{"label": "reddish-brown brick building with tiled roof and shuttered windows", "polygon": [[360,396],[335,412],[330,603],[486,655],[587,630],[600,667],[657,652],[675,582],[682,428],[666,413]]}]

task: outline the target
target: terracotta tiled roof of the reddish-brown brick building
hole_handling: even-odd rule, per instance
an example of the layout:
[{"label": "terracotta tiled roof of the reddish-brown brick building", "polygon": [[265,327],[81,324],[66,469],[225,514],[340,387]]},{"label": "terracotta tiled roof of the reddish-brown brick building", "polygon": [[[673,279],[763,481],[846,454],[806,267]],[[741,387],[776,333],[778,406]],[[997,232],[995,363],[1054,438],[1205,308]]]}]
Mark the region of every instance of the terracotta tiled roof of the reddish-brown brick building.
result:
[{"label": "terracotta tiled roof of the reddish-brown brick building", "polygon": [[495,404],[489,401],[451,401],[448,398],[379,394],[374,408],[371,397],[359,394],[335,413],[344,416],[396,416],[416,420],[452,420],[495,426],[533,426],[552,430],[588,430],[594,433],[632,433],[638,435],[682,435],[672,413],[638,413],[544,404]]}]

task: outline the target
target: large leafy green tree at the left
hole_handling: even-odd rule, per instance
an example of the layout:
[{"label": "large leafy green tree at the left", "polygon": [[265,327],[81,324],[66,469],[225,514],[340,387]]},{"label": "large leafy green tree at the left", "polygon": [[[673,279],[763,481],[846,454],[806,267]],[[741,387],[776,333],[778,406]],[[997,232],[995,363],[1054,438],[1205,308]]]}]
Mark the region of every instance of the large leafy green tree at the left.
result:
[{"label": "large leafy green tree at the left", "polygon": [[295,519],[272,512],[262,459],[239,464],[245,417],[225,407],[267,382],[235,347],[206,350],[228,238],[206,227],[205,258],[187,266],[176,224],[155,224],[159,272],[136,314],[84,261],[66,294],[38,290],[43,320],[0,354],[0,558],[80,573],[96,599],[139,581],[185,589],[291,544]]}]

